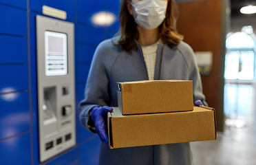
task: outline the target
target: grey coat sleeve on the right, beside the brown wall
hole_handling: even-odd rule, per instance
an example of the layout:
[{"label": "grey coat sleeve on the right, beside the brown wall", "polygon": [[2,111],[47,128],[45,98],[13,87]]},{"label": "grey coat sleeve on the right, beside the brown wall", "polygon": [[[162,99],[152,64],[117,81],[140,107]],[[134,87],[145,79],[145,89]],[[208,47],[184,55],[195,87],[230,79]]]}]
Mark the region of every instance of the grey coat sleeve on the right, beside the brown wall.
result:
[{"label": "grey coat sleeve on the right, beside the brown wall", "polygon": [[193,81],[193,101],[201,100],[204,106],[208,106],[202,90],[202,80],[196,62],[195,53],[192,48],[186,44],[186,63],[189,67],[189,80]]}]

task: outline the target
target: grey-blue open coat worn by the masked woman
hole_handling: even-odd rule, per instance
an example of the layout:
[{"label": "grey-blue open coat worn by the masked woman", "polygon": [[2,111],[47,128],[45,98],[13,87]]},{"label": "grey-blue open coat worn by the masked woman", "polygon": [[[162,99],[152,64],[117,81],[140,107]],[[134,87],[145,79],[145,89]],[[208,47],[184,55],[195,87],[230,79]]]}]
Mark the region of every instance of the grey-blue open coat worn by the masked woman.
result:
[{"label": "grey-blue open coat worn by the masked woman", "polygon": [[[94,106],[117,107],[117,82],[148,80],[147,67],[140,45],[131,53],[120,50],[118,36],[100,43],[95,51],[85,87],[85,99],[80,103],[81,124],[88,129],[88,111]],[[155,80],[193,80],[193,97],[205,102],[195,55],[189,45],[182,42],[171,49],[158,45]],[[109,149],[102,143],[100,165],[191,165],[189,143],[162,144],[131,148]]]}]

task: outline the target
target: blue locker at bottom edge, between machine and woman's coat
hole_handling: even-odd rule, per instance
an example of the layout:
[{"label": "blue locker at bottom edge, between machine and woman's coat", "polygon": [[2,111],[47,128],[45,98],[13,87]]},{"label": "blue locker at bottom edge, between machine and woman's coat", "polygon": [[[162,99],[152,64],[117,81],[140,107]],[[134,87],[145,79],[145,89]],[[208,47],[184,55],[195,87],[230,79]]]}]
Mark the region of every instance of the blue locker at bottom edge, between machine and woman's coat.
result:
[{"label": "blue locker at bottom edge, between machine and woman's coat", "polygon": [[94,135],[92,140],[79,146],[79,162],[81,165],[98,164],[101,143],[98,135]]}]

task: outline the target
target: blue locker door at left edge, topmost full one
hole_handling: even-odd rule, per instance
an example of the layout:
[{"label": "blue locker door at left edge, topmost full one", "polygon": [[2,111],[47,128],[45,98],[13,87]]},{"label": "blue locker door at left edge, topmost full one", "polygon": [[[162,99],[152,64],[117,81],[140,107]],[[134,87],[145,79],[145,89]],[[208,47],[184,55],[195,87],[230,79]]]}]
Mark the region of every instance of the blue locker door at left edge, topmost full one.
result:
[{"label": "blue locker door at left edge, topmost full one", "polygon": [[0,33],[27,36],[26,10],[0,5],[0,16]]}]

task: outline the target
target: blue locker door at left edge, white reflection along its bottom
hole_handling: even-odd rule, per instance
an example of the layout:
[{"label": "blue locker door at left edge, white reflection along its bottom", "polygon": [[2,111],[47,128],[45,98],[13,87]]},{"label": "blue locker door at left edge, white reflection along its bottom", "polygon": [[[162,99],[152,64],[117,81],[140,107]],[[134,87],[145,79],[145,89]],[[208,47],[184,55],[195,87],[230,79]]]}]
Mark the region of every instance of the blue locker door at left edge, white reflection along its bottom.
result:
[{"label": "blue locker door at left edge, white reflection along its bottom", "polygon": [[28,65],[0,65],[0,94],[28,89]]}]

